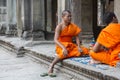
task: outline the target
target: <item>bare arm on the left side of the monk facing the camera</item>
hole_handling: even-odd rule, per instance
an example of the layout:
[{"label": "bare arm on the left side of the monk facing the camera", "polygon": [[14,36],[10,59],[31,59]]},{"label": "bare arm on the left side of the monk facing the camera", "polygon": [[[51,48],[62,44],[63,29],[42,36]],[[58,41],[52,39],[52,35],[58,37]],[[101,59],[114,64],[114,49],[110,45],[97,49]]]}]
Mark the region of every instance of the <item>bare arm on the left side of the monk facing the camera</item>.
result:
[{"label": "bare arm on the left side of the monk facing the camera", "polygon": [[61,32],[61,26],[58,25],[58,26],[56,27],[56,29],[55,29],[54,41],[55,41],[55,43],[56,43],[58,46],[60,46],[60,47],[62,48],[63,53],[64,53],[64,55],[66,56],[66,55],[68,54],[67,49],[66,49],[66,47],[65,47],[64,45],[62,45],[61,42],[59,42],[59,40],[58,40],[58,39],[59,39],[59,36],[60,36],[60,32]]}]

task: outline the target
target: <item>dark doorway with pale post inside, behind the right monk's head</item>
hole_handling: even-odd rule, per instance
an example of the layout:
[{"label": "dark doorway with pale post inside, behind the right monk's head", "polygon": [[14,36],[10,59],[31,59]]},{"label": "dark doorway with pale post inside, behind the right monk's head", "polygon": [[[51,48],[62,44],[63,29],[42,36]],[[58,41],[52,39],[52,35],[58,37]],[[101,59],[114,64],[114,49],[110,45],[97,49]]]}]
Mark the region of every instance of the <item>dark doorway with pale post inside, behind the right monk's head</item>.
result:
[{"label": "dark doorway with pale post inside, behind the right monk's head", "polygon": [[93,0],[93,35],[95,40],[106,26],[103,23],[103,15],[107,11],[114,11],[114,0]]}]

